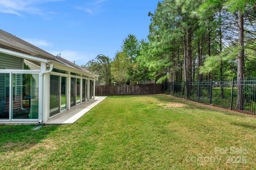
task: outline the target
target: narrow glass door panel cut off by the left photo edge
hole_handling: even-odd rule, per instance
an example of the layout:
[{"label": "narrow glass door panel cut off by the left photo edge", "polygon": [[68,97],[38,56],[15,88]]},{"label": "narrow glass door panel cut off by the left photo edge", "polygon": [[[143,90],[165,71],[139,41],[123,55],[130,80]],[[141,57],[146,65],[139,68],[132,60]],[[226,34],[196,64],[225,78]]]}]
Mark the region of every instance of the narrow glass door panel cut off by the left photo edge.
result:
[{"label": "narrow glass door panel cut off by the left photo edge", "polygon": [[0,120],[9,120],[10,73],[0,73]]}]

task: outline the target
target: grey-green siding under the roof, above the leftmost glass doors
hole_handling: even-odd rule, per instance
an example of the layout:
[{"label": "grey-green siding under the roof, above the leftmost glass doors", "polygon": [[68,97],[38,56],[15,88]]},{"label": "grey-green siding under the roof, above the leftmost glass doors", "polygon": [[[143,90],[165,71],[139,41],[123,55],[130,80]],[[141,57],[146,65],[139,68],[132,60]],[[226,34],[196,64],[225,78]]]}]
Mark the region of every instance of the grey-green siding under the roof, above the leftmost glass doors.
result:
[{"label": "grey-green siding under the roof, above the leftmost glass doors", "polygon": [[22,70],[23,63],[24,63],[23,58],[0,53],[0,70],[1,69]]}]

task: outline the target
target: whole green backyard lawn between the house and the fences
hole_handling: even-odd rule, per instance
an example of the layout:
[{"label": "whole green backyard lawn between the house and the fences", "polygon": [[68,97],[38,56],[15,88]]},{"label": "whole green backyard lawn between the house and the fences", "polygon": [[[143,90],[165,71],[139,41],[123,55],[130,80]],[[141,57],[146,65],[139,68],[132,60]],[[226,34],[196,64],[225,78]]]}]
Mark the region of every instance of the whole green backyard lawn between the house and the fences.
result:
[{"label": "whole green backyard lawn between the house and the fences", "polygon": [[31,128],[0,126],[0,169],[256,166],[255,117],[166,95],[108,97],[73,125]]}]

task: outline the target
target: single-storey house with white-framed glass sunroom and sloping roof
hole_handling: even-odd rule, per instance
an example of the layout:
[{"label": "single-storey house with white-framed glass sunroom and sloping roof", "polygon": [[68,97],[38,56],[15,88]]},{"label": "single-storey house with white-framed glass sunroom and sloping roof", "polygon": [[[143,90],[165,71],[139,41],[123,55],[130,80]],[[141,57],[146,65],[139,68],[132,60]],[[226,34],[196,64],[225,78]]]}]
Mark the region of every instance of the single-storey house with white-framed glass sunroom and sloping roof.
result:
[{"label": "single-storey house with white-framed glass sunroom and sloping roof", "polygon": [[46,123],[93,100],[97,79],[83,67],[0,30],[0,123]]}]

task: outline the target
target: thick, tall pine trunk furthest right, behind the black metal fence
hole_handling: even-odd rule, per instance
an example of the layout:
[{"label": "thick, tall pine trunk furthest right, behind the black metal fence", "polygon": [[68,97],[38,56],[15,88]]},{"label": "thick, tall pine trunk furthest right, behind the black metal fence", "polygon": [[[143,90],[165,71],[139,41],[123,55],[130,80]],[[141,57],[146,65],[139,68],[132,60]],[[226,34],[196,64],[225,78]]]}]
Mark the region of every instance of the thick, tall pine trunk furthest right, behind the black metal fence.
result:
[{"label": "thick, tall pine trunk furthest right, behind the black metal fence", "polygon": [[237,58],[237,104],[236,109],[243,110],[243,86],[244,79],[244,15],[241,11],[238,12],[239,35],[238,45],[239,52]]}]

